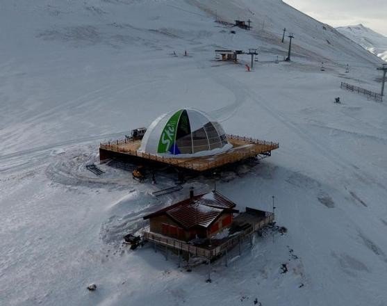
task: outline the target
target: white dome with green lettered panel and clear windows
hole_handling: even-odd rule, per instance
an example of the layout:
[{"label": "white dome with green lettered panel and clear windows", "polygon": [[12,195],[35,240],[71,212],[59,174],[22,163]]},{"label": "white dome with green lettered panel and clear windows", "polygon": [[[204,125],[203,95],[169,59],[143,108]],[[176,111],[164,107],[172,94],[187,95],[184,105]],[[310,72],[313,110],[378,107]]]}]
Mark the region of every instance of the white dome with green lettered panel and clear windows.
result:
[{"label": "white dome with green lettered panel and clear windows", "polygon": [[158,155],[213,155],[229,150],[224,129],[206,113],[183,108],[158,117],[147,129],[141,152]]}]

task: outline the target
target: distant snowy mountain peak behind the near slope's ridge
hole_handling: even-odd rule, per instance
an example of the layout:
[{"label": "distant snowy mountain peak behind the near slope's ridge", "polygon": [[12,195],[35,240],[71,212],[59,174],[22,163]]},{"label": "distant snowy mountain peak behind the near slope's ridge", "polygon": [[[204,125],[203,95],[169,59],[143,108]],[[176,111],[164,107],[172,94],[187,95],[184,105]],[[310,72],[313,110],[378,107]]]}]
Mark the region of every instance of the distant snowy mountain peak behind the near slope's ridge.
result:
[{"label": "distant snowy mountain peak behind the near slope's ridge", "polygon": [[340,26],[336,28],[340,33],[347,38],[357,42],[361,47],[367,49],[372,54],[375,54],[387,61],[387,37],[381,35],[372,29],[358,24],[356,26]]}]

